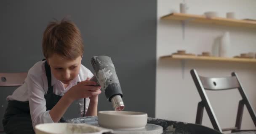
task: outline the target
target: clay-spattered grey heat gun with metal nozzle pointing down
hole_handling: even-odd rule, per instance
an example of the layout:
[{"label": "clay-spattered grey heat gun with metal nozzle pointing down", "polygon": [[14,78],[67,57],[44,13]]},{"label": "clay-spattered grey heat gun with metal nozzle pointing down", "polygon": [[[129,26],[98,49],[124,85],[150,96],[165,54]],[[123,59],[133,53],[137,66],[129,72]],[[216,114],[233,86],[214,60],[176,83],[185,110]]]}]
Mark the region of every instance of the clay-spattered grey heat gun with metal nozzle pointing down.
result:
[{"label": "clay-spattered grey heat gun with metal nozzle pointing down", "polygon": [[91,59],[91,64],[95,75],[91,81],[97,82],[104,91],[107,100],[112,102],[115,111],[122,111],[125,108],[123,103],[123,93],[115,72],[115,66],[110,57],[94,56]]}]

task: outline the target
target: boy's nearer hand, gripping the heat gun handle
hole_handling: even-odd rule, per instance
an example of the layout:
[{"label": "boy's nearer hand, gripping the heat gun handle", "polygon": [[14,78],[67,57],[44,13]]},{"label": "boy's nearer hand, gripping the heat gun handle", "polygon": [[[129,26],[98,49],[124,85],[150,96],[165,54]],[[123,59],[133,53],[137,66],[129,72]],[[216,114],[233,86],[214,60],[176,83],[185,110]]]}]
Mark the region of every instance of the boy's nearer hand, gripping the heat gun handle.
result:
[{"label": "boy's nearer hand, gripping the heat gun handle", "polygon": [[[89,81],[79,82],[77,85],[70,88],[65,95],[69,97],[71,101],[75,101],[81,98],[92,98],[92,101],[98,101],[98,95],[101,93],[101,86],[96,86],[97,83]],[[95,97],[92,97],[95,96]]]}]

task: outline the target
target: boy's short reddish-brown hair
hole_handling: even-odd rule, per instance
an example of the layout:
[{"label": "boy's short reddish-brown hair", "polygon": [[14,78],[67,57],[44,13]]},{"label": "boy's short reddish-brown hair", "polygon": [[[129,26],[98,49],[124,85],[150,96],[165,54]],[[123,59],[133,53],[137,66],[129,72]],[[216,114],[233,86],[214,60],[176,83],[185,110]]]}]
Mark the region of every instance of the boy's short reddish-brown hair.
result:
[{"label": "boy's short reddish-brown hair", "polygon": [[63,59],[75,60],[83,55],[83,39],[75,23],[52,21],[43,33],[43,54],[46,59],[59,54]]}]

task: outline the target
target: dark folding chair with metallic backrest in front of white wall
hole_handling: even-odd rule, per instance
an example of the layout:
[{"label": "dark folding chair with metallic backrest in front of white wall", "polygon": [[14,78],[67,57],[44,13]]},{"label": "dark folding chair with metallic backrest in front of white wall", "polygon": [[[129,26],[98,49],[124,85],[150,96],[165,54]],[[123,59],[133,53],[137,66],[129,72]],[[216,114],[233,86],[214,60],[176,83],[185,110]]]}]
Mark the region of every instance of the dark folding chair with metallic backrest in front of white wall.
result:
[{"label": "dark folding chair with metallic backrest in front of white wall", "polygon": [[[256,134],[256,130],[241,130],[241,123],[243,117],[243,108],[244,105],[247,107],[251,119],[253,120],[254,125],[256,126],[256,116],[251,104],[244,92],[243,86],[241,85],[237,74],[232,72],[231,77],[202,77],[199,76],[196,70],[191,70],[190,74],[195,82],[198,93],[202,99],[197,105],[197,115],[196,115],[196,124],[202,124],[203,119],[203,110],[206,109],[208,116],[211,120],[211,124],[213,128],[220,131],[231,131],[232,134]],[[205,93],[205,90],[229,90],[229,89],[238,89],[242,96],[242,100],[239,101],[238,110],[237,110],[237,119],[235,127],[221,129],[218,120],[216,119],[215,113],[213,112],[213,108],[211,103]]]}]

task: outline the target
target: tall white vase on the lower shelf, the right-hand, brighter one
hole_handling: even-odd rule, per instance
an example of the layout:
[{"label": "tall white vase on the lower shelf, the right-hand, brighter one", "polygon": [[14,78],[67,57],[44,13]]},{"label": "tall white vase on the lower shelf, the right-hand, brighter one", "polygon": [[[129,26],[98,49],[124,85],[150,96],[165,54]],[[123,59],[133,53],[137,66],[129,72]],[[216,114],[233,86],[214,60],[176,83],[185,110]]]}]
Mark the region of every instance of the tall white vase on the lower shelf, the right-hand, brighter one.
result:
[{"label": "tall white vase on the lower shelf, the right-hand, brighter one", "polygon": [[219,57],[229,57],[229,50],[230,50],[230,36],[229,36],[229,32],[225,32],[220,40]]}]

